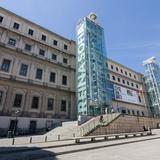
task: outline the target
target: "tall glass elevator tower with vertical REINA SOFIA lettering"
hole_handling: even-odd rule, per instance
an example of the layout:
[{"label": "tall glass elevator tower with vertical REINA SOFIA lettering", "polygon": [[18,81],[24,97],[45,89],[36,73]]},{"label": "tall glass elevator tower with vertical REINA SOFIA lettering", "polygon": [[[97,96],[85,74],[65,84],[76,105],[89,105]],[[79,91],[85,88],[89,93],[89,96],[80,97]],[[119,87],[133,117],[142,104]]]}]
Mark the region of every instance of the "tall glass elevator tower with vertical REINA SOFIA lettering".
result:
[{"label": "tall glass elevator tower with vertical REINA SOFIA lettering", "polygon": [[79,115],[96,116],[109,111],[104,29],[96,15],[84,17],[77,25],[77,106]]}]

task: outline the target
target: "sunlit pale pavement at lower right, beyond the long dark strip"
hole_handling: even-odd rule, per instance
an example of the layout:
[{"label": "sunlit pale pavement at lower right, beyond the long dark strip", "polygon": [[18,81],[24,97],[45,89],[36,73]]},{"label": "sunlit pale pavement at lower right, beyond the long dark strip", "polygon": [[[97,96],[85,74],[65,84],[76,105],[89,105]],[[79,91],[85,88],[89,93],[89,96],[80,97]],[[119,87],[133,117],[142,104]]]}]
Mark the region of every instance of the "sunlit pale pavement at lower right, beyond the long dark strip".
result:
[{"label": "sunlit pale pavement at lower right, beyond the long dark strip", "polygon": [[[58,160],[160,160],[160,139],[56,156]],[[42,160],[42,159],[39,159]],[[43,160],[53,160],[44,158]]]}]

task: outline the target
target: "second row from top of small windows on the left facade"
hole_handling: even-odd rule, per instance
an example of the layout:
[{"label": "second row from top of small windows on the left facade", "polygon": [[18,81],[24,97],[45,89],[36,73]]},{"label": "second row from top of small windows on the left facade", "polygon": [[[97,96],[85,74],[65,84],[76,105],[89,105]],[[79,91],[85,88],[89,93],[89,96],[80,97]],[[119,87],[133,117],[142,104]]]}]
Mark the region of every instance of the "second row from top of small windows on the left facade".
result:
[{"label": "second row from top of small windows on the left facade", "polygon": [[[8,44],[15,47],[16,46],[16,39],[9,38]],[[30,44],[25,44],[24,49],[25,49],[25,51],[31,52],[32,51],[32,46]],[[39,49],[39,55],[44,57],[45,56],[45,50]],[[52,58],[52,60],[57,60],[57,55],[52,53],[51,58]],[[68,59],[67,58],[63,58],[63,63],[64,64],[68,64]]]}]

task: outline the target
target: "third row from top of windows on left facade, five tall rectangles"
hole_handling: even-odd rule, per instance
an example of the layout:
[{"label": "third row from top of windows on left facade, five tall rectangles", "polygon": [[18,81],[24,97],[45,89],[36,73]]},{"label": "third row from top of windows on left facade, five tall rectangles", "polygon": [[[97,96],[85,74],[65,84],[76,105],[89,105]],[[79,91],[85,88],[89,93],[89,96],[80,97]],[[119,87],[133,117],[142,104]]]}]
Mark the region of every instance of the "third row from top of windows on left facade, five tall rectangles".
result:
[{"label": "third row from top of windows on left facade, five tall rectangles", "polygon": [[[1,71],[9,72],[11,66],[11,60],[9,59],[3,59],[2,65],[1,65]],[[19,75],[26,77],[28,72],[28,65],[27,64],[21,64]],[[35,78],[38,80],[42,80],[43,77],[43,69],[37,68]],[[49,75],[50,82],[55,83],[56,81],[56,73],[50,72]],[[62,75],[62,85],[67,85],[67,76]]]}]

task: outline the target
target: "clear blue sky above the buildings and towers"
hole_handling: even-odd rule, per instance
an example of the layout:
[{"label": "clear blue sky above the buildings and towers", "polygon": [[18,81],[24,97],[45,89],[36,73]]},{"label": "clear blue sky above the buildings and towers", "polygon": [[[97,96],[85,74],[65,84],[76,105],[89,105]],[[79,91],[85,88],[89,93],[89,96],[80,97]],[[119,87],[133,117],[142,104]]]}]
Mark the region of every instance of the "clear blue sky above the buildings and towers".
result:
[{"label": "clear blue sky above the buildings and towers", "polygon": [[94,11],[109,58],[143,72],[143,60],[160,57],[160,0],[0,0],[0,6],[73,40],[78,19]]}]

